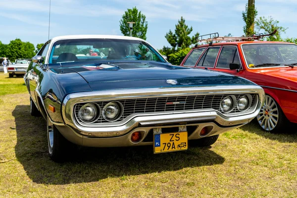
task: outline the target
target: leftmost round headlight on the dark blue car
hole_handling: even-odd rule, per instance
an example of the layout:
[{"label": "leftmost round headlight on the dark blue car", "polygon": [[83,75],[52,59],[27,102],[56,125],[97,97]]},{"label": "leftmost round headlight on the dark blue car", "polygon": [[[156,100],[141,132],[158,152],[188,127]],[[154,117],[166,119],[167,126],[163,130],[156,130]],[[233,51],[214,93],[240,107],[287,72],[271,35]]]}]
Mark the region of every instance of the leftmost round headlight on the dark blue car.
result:
[{"label": "leftmost round headlight on the dark blue car", "polygon": [[99,106],[94,103],[87,103],[83,105],[78,111],[78,117],[83,122],[92,122],[100,114]]}]

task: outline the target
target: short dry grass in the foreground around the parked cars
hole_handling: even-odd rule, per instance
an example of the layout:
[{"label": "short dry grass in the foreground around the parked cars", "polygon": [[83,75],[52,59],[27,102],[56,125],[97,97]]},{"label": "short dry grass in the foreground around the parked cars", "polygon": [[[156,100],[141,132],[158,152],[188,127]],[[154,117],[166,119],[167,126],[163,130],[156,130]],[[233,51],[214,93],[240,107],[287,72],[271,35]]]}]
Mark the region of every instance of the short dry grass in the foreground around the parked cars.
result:
[{"label": "short dry grass in the foreground around the parked cars", "polygon": [[297,195],[296,127],[270,134],[250,123],[209,148],[164,154],[151,146],[77,148],[59,164],[47,154],[46,121],[30,116],[29,95],[0,96],[0,105],[0,197]]}]

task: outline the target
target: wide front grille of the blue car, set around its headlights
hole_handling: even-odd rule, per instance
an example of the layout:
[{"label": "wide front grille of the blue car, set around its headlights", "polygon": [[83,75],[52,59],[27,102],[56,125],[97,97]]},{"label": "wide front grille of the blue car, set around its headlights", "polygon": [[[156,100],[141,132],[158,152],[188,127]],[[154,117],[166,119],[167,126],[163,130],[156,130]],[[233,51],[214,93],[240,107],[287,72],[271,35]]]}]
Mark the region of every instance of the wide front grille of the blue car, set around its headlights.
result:
[{"label": "wide front grille of the blue car, set around its headlights", "polygon": [[[238,100],[245,94],[235,94],[233,96]],[[120,122],[129,115],[135,113],[150,113],[150,112],[165,112],[165,111],[183,111],[183,110],[196,110],[196,109],[206,109],[212,108],[217,111],[221,111],[220,109],[220,101],[230,95],[205,95],[205,96],[178,96],[178,97],[160,97],[160,98],[145,98],[145,99],[122,99],[122,100],[110,100],[110,101],[118,101],[123,104],[124,112],[123,115],[116,121]],[[255,94],[251,94],[252,103],[255,102]],[[110,101],[98,101],[97,103],[102,109],[105,104]],[[179,104],[168,104],[170,102],[185,102]],[[78,103],[74,106],[74,114],[76,119],[79,122],[82,122],[78,117],[79,109],[86,103]],[[230,112],[236,113],[239,112],[237,107]],[[223,112],[222,112],[223,113]],[[226,115],[230,113],[224,113]],[[107,123],[102,116],[94,123]]]}]

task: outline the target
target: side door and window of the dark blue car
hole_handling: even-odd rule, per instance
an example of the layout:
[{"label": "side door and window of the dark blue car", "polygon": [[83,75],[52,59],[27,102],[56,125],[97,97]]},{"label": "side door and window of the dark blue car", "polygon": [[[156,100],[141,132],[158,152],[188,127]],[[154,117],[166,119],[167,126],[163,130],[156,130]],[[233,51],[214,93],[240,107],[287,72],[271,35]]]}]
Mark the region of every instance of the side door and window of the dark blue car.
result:
[{"label": "side door and window of the dark blue car", "polygon": [[[41,55],[45,59],[48,49],[49,49],[49,42],[47,42],[42,47],[42,49],[37,53],[37,55]],[[35,103],[37,102],[35,98],[35,90],[39,85],[40,67],[42,64],[43,63],[35,63],[32,61],[33,68],[29,71],[29,75],[28,75],[30,94],[32,96],[32,99],[35,101]]]}]

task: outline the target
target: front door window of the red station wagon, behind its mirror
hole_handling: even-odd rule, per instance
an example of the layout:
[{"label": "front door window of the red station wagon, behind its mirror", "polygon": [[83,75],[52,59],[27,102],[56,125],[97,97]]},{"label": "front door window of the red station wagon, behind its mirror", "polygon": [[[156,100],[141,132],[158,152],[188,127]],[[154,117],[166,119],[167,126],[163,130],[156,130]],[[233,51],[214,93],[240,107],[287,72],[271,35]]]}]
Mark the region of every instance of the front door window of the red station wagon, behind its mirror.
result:
[{"label": "front door window of the red station wagon, behind its mirror", "polygon": [[240,64],[240,59],[236,47],[223,47],[218,60],[217,68],[229,69],[230,63]]}]

